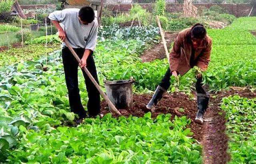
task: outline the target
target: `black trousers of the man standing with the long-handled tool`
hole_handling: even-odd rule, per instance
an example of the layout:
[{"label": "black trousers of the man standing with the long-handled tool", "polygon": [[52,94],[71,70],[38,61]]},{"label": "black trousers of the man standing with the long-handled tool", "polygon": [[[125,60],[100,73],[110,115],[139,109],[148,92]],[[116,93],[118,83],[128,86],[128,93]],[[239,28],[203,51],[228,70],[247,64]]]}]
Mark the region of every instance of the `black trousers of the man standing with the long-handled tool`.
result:
[{"label": "black trousers of the man standing with the long-handled tool", "polygon": [[[84,55],[84,48],[74,48],[74,51],[80,59]],[[96,66],[92,54],[93,52],[87,58],[86,68],[99,84]],[[62,62],[64,66],[66,85],[68,88],[68,98],[71,112],[78,114],[80,118],[84,118],[86,116],[86,111],[82,106],[78,88],[78,62],[67,47],[62,49]],[[84,72],[84,70],[82,70],[82,72],[84,75],[86,90],[88,92],[89,98],[87,103],[88,112],[90,116],[96,116],[100,113],[100,93],[90,78],[87,76],[87,74]]]}]

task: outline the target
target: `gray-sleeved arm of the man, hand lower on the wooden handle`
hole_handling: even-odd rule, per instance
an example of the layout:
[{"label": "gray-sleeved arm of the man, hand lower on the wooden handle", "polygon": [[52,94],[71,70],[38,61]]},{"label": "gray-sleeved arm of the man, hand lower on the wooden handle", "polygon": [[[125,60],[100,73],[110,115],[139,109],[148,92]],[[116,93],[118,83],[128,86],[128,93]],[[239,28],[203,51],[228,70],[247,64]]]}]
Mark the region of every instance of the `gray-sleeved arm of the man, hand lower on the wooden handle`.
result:
[{"label": "gray-sleeved arm of the man, hand lower on the wooden handle", "polygon": [[95,50],[97,34],[98,34],[98,24],[95,24],[92,27],[92,30],[87,38],[84,56],[81,59],[81,61],[82,61],[82,64],[80,65],[81,68],[84,68],[86,66],[86,60],[87,60],[88,56],[91,54],[92,51]]}]

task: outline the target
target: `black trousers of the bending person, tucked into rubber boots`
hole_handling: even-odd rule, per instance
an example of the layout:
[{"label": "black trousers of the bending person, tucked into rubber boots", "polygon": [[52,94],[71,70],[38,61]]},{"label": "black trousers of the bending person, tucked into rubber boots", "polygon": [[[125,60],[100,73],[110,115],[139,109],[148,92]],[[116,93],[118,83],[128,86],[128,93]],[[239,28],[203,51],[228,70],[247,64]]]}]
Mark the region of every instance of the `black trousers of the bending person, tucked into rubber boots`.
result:
[{"label": "black trousers of the bending person, tucked into rubber boots", "polygon": [[[159,86],[161,86],[162,88],[164,88],[165,90],[168,90],[168,88],[170,87],[170,78],[172,76],[171,70],[170,68],[167,69],[164,77],[162,78]],[[206,94],[206,90],[204,90],[204,88],[202,87],[202,82],[203,79],[201,78],[196,78],[196,92],[200,93],[200,94]]]}]

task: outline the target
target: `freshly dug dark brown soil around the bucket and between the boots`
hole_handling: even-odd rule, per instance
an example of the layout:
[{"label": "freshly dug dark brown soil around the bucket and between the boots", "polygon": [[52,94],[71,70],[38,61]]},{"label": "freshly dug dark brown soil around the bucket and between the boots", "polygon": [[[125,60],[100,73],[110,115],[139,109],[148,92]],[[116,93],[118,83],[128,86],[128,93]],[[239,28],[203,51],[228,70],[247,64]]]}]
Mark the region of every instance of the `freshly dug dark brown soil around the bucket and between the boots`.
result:
[{"label": "freshly dug dark brown soil around the bucket and between the boots", "polygon": [[[130,110],[119,110],[123,116],[138,116],[142,117],[148,110],[146,109],[146,104],[149,102],[152,96],[148,94],[143,95],[134,95],[134,106]],[[184,109],[184,111],[182,109]],[[104,101],[101,104],[102,114],[110,112],[108,110],[108,105]],[[188,128],[191,128],[191,131],[194,132],[193,137],[200,141],[202,139],[202,125],[197,124],[194,119],[196,117],[196,101],[191,100],[188,95],[181,93],[174,94],[165,94],[162,100],[158,103],[155,110],[152,112],[152,117],[156,118],[159,114],[172,114],[174,116],[187,116],[191,119],[191,124]],[[116,114],[113,114],[116,116]]]}]

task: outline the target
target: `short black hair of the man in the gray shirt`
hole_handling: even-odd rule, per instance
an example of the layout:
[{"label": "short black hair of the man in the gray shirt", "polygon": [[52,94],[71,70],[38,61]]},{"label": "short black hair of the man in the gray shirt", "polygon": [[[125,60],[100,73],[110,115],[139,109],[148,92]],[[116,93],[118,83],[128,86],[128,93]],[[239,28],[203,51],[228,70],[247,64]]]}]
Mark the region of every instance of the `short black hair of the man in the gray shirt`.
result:
[{"label": "short black hair of the man in the gray shirt", "polygon": [[95,18],[95,13],[91,7],[85,6],[80,9],[78,16],[83,22],[92,23]]}]

